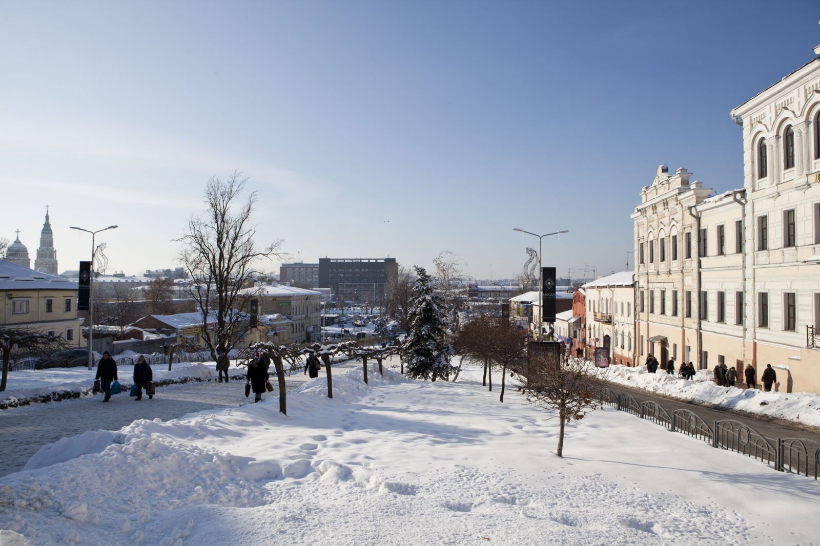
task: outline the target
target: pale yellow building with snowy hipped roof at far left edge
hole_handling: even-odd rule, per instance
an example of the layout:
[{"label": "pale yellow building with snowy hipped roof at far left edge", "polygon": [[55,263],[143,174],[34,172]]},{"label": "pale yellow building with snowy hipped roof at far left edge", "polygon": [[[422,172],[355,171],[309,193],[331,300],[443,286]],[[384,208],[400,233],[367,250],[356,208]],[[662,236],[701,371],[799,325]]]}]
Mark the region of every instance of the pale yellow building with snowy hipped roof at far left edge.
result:
[{"label": "pale yellow building with snowy hipped roof at far left edge", "polygon": [[70,346],[80,347],[77,289],[77,284],[57,275],[0,260],[2,325],[59,335]]}]

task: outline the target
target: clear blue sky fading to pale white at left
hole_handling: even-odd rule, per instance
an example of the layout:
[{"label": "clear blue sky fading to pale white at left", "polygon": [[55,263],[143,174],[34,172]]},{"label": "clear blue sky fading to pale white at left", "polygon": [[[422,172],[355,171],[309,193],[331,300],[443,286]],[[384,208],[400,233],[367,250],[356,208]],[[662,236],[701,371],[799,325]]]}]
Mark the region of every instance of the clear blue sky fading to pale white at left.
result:
[{"label": "clear blue sky fading to pale white at left", "polygon": [[[813,57],[817,2],[0,2],[0,236],[176,266],[207,179],[294,258],[449,250],[622,270],[659,163],[743,184],[729,111]],[[535,246],[537,248],[537,246]],[[630,265],[632,262],[630,261]],[[264,266],[274,270],[278,266]]]}]

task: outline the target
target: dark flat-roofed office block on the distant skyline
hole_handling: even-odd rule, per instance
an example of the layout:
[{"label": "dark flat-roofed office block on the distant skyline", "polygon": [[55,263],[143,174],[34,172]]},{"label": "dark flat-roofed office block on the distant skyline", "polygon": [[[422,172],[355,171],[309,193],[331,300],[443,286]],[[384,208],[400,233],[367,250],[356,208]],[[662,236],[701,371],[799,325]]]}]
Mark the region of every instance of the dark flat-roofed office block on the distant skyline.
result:
[{"label": "dark flat-roofed office block on the distant skyline", "polygon": [[319,258],[319,286],[330,288],[337,303],[379,305],[398,274],[395,258]]}]

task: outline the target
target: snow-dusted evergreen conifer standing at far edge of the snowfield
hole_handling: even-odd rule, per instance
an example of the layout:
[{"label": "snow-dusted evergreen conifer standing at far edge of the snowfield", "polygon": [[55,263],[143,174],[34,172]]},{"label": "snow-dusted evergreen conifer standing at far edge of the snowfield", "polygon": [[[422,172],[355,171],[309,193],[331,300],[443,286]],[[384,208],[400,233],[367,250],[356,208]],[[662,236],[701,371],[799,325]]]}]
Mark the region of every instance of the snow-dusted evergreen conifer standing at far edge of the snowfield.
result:
[{"label": "snow-dusted evergreen conifer standing at far edge of the snowfield", "polygon": [[441,297],[433,290],[433,280],[423,267],[415,266],[416,284],[408,312],[410,331],[402,344],[407,375],[413,379],[447,380],[455,368],[450,365],[453,348],[445,341],[447,313]]}]

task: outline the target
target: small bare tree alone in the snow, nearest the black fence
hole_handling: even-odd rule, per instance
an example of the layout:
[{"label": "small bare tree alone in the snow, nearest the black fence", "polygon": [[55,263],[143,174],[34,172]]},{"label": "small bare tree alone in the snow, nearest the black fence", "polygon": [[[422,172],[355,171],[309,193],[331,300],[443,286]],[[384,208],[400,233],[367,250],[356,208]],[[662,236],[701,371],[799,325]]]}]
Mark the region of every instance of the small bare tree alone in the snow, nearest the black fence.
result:
[{"label": "small bare tree alone in the snow, nearest the black fence", "polygon": [[531,355],[519,386],[528,403],[556,412],[559,429],[555,453],[563,457],[564,425],[581,421],[587,413],[601,407],[606,369],[589,366],[582,358],[552,356]]}]

